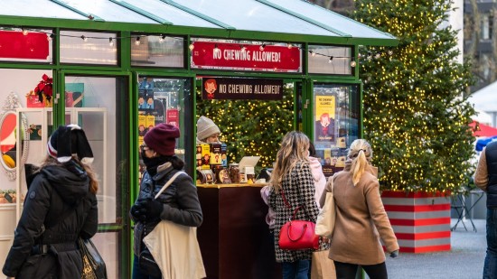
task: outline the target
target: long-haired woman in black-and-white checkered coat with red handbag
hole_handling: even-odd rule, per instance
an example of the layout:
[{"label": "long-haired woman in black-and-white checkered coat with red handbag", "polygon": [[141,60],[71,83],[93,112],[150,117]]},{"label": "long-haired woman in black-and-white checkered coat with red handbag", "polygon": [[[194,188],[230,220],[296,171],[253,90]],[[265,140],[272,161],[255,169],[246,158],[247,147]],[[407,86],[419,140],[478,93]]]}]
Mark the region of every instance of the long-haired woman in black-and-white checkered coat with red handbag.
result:
[{"label": "long-haired woman in black-and-white checkered coat with red handbag", "polygon": [[[275,252],[282,264],[283,278],[306,279],[313,250],[284,250],[278,246],[281,227],[301,207],[295,219],[315,222],[319,209],[314,199],[314,177],[309,166],[309,138],[300,132],[289,132],[277,152],[277,162],[271,174],[269,206],[276,212]],[[282,191],[290,205],[283,200]],[[320,242],[320,248],[324,243]]]}]

